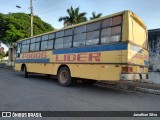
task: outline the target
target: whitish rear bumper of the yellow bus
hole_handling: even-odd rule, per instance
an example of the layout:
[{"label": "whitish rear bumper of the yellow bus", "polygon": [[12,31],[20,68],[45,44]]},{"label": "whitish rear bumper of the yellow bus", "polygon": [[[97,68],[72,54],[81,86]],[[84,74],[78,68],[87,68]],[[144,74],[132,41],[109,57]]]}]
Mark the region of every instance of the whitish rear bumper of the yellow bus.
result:
[{"label": "whitish rear bumper of the yellow bus", "polygon": [[121,80],[145,80],[148,74],[121,74]]}]

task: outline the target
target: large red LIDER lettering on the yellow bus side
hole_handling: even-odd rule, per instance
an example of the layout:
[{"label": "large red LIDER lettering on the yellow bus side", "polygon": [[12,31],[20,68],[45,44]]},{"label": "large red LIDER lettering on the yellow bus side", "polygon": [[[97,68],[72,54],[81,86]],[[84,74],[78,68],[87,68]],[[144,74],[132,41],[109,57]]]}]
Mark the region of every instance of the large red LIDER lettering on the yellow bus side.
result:
[{"label": "large red LIDER lettering on the yellow bus side", "polygon": [[79,53],[79,54],[65,54],[56,55],[56,62],[87,62],[100,61],[101,53]]}]

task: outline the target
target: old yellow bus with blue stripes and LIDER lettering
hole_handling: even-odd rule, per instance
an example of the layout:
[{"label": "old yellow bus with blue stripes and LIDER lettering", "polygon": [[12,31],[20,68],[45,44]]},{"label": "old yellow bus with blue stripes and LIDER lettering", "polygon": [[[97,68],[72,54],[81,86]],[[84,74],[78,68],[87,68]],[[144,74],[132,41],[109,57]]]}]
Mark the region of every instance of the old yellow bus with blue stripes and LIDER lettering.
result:
[{"label": "old yellow bus with blue stripes and LIDER lettering", "polygon": [[131,11],[44,33],[17,42],[15,70],[56,75],[63,86],[75,78],[120,81],[148,79],[144,22]]}]

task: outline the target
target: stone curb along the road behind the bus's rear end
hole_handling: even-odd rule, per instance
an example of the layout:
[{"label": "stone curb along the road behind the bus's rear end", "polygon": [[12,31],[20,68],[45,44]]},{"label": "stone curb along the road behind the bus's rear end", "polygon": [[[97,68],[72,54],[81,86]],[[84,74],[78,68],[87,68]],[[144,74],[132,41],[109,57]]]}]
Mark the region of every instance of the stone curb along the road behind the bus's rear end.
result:
[{"label": "stone curb along the road behind the bus's rear end", "polygon": [[122,84],[115,84],[115,83],[111,84],[111,83],[104,83],[104,82],[97,82],[95,85],[100,87],[109,87],[109,88],[115,88],[115,89],[123,89],[123,90],[160,95],[160,90],[148,89],[143,87],[135,87],[133,85],[122,85]]}]

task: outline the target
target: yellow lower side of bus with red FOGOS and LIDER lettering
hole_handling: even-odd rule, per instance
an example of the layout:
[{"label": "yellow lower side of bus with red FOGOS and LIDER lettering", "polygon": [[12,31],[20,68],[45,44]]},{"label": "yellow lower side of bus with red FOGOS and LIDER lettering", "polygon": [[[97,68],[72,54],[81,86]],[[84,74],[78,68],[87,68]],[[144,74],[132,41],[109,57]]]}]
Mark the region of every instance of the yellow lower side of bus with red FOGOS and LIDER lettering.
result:
[{"label": "yellow lower side of bus with red FOGOS and LIDER lettering", "polygon": [[[28,72],[57,75],[58,68],[61,65],[66,65],[69,67],[72,77],[95,80],[120,79],[121,51],[74,54],[50,53],[50,51],[23,53],[20,59],[17,59],[17,62],[20,62],[20,64],[16,64],[15,69],[20,71],[21,65],[24,63]],[[36,59],[37,56],[38,59]],[[49,59],[49,61],[42,63],[45,59]],[[112,71],[115,72],[113,73]]]}]

